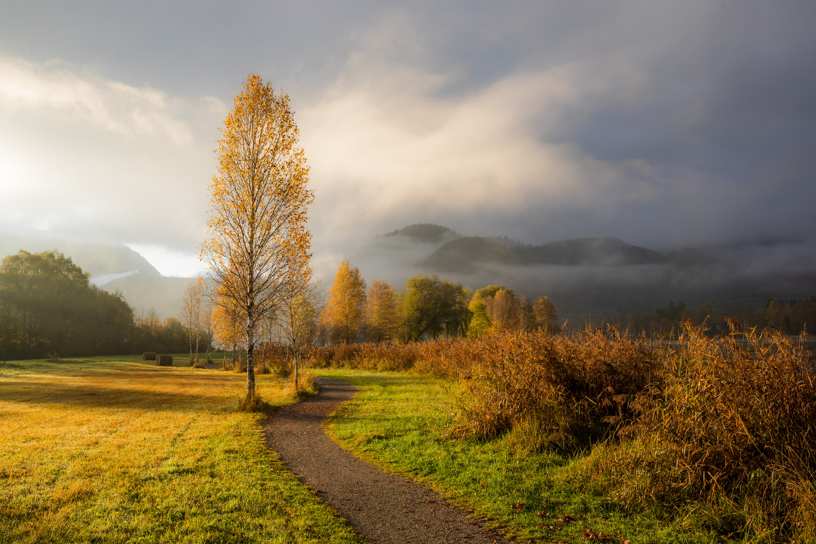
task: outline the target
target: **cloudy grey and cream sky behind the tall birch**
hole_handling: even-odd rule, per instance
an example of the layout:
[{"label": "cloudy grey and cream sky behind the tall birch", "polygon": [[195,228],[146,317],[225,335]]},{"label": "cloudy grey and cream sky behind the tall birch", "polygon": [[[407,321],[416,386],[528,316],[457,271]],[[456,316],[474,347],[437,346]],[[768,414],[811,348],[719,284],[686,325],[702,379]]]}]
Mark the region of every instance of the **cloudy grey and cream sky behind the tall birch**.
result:
[{"label": "cloudy grey and cream sky behind the tall birch", "polygon": [[294,105],[326,268],[424,222],[658,250],[805,240],[814,28],[809,0],[7,0],[0,228],[192,275],[218,127],[258,73]]}]

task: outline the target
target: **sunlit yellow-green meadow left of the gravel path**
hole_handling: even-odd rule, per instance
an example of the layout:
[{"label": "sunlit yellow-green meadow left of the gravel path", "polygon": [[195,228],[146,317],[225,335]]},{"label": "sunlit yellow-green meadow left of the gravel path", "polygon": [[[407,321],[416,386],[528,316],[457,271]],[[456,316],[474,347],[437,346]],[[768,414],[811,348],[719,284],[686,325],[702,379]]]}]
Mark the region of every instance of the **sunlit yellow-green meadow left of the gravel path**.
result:
[{"label": "sunlit yellow-green meadow left of the gravel path", "polygon": [[[237,412],[244,379],[138,356],[0,365],[0,542],[357,542],[264,446],[264,416]],[[258,389],[294,400],[280,378]]]}]

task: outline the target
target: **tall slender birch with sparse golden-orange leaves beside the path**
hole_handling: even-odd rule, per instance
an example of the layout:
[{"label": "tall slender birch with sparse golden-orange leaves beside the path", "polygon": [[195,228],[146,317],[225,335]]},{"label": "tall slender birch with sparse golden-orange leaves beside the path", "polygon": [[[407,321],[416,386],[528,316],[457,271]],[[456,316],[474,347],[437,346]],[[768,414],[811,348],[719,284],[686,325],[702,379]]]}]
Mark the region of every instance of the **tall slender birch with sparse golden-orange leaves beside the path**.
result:
[{"label": "tall slender birch with sparse golden-orange leaves beside the path", "polygon": [[302,292],[312,273],[306,222],[314,196],[298,136],[289,95],[246,77],[221,129],[202,259],[218,294],[213,303],[244,320],[247,402],[255,398],[257,325]]}]

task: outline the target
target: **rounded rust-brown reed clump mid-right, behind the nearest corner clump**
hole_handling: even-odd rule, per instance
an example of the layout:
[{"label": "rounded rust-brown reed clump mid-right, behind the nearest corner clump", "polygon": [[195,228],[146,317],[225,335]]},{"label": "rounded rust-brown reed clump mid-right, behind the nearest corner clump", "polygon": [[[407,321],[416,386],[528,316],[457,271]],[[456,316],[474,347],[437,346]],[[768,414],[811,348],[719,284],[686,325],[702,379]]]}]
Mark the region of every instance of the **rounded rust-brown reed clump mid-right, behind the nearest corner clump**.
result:
[{"label": "rounded rust-brown reed clump mid-right, behind the nearest corner clump", "polygon": [[585,447],[631,420],[632,400],[659,371],[645,338],[609,327],[577,337],[496,334],[452,343],[437,360],[464,378],[455,436],[516,429],[522,447]]}]

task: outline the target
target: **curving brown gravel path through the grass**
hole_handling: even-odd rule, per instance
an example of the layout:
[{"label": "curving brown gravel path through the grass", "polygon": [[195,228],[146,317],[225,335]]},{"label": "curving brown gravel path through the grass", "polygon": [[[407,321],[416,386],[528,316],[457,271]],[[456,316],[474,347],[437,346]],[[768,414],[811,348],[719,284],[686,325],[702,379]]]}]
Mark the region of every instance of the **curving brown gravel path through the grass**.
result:
[{"label": "curving brown gravel path through the grass", "polygon": [[357,387],[329,378],[317,383],[319,395],[268,419],[267,443],[357,533],[378,544],[506,542],[468,518],[467,511],[447,506],[431,489],[381,471],[335,444],[322,422]]}]

